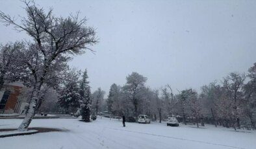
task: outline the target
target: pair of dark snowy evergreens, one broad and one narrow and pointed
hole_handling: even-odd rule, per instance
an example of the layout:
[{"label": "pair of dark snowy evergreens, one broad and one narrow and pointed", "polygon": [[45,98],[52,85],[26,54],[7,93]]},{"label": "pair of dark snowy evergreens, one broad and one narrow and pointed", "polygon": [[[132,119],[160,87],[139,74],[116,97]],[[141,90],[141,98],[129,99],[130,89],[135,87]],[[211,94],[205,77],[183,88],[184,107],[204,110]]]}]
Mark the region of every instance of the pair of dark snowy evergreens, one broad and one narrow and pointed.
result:
[{"label": "pair of dark snowy evergreens, one broad and one narrow and pointed", "polygon": [[77,108],[80,108],[82,119],[90,122],[92,100],[87,71],[83,72],[81,80],[79,80],[80,75],[80,71],[71,71],[70,79],[58,89],[58,104],[66,110],[66,113],[75,113]]}]

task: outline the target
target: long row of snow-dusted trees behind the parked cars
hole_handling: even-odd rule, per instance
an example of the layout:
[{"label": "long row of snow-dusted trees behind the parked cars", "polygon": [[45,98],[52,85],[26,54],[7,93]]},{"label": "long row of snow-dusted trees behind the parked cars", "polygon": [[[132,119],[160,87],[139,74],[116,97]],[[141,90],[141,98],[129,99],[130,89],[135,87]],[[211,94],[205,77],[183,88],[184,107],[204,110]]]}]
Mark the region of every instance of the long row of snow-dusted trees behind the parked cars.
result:
[{"label": "long row of snow-dusted trees behind the parked cars", "polygon": [[131,73],[126,80],[124,86],[110,87],[106,105],[114,115],[146,114],[159,122],[176,116],[185,124],[207,122],[235,129],[241,125],[255,128],[256,63],[248,75],[230,73],[219,84],[201,87],[201,93],[185,89],[173,95],[170,85],[153,90],[145,86],[147,78],[138,73]]}]

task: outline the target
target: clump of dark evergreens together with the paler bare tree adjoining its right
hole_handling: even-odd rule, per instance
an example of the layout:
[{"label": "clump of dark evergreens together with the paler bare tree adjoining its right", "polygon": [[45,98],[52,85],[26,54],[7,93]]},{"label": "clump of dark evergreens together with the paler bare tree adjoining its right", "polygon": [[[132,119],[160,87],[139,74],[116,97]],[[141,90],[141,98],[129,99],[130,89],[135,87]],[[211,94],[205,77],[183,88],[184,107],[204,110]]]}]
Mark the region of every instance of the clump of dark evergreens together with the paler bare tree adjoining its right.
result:
[{"label": "clump of dark evergreens together with the paler bare tree adjoining its right", "polygon": [[64,86],[58,89],[58,102],[55,104],[58,104],[64,113],[78,112],[77,116],[82,115],[84,121],[90,122],[90,114],[96,115],[103,110],[104,95],[105,91],[100,87],[91,93],[86,70],[82,76],[80,71],[72,71],[70,80],[66,80]]}]

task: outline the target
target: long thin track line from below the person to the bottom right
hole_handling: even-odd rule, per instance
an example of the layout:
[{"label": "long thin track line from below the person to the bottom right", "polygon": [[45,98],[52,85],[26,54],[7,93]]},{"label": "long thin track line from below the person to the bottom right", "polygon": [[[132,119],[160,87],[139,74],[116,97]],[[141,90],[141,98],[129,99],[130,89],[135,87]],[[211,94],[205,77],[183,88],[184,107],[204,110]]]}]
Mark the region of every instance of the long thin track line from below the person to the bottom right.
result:
[{"label": "long thin track line from below the person to the bottom right", "polygon": [[[116,129],[116,128],[108,128],[108,129],[110,129],[110,130],[119,130],[119,131],[123,131],[123,132],[140,133],[140,134],[145,134],[145,135],[153,135],[153,136],[157,136],[157,137],[166,137],[166,138],[170,138],[170,139],[178,139],[178,140],[183,140],[183,141],[192,141],[192,142],[196,142],[196,143],[205,143],[205,144],[212,144],[212,145],[217,145],[217,146],[225,146],[225,147],[229,147],[229,148],[240,148],[240,147],[237,147],[237,146],[229,146],[229,145],[218,144],[218,143],[209,143],[209,142],[206,142],[206,141],[197,141],[197,140],[184,139],[184,138],[179,138],[179,137],[170,137],[170,136],[166,136],[166,135],[155,135],[153,133],[135,132],[135,131],[131,131],[131,130],[120,130],[120,129]],[[240,149],[245,149],[245,148],[240,148]]]}]

